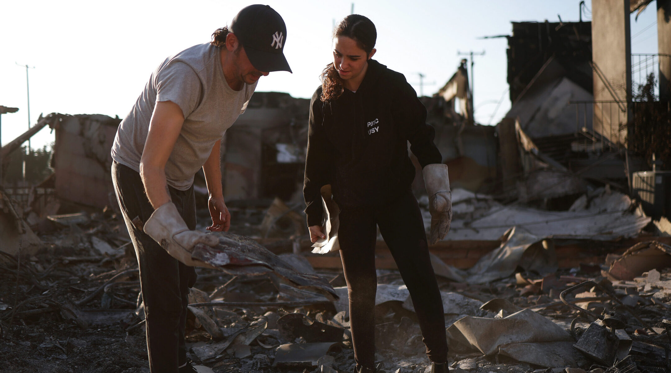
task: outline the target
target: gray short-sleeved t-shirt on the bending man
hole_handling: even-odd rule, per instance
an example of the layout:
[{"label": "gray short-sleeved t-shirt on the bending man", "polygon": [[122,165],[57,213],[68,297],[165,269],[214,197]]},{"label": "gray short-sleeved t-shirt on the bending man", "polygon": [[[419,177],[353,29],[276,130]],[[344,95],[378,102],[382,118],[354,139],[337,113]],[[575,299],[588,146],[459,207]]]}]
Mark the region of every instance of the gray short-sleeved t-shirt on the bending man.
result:
[{"label": "gray short-sleeved t-shirt on the bending man", "polygon": [[132,111],[121,121],[112,146],[113,160],[140,172],[140,158],[157,101],[172,101],[184,124],[166,163],[168,185],[189,189],[212,147],[244,113],[256,83],[229,87],[221,70],[221,48],[209,43],[183,50],[152,72]]}]

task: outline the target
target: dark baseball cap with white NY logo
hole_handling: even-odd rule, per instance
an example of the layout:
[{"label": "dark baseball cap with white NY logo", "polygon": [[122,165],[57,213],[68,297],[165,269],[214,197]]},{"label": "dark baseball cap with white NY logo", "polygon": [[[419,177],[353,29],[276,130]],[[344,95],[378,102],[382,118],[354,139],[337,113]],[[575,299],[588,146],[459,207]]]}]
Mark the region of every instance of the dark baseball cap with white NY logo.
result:
[{"label": "dark baseball cap with white NY logo", "polygon": [[243,8],[231,21],[230,30],[240,40],[254,68],[264,72],[291,72],[284,54],[287,26],[270,5]]}]

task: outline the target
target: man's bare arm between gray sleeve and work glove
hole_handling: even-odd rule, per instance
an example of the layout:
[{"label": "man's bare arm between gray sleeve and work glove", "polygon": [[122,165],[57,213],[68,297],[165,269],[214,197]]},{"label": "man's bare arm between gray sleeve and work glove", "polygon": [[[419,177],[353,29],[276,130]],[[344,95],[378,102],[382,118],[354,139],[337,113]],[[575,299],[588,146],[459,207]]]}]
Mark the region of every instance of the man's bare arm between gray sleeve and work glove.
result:
[{"label": "man's bare arm between gray sleeve and work glove", "polygon": [[156,103],[140,159],[140,177],[154,209],[170,202],[165,167],[183,123],[184,114],[179,105],[172,101]]}]

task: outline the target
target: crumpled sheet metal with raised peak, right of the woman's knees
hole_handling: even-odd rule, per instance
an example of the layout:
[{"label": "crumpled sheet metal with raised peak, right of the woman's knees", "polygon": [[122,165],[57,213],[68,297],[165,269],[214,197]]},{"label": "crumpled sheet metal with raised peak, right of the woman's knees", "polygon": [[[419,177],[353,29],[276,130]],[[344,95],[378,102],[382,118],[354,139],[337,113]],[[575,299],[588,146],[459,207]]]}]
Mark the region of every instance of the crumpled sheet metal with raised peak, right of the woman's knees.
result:
[{"label": "crumpled sheet metal with raised peak, right of the woman's knees", "polygon": [[501,246],[497,250],[482,256],[468,270],[445,264],[449,271],[442,271],[440,274],[458,282],[484,284],[511,276],[517,266],[541,274],[554,273],[558,268],[554,246],[550,245],[546,249],[542,246],[542,241],[543,237],[512,227],[501,237]]}]

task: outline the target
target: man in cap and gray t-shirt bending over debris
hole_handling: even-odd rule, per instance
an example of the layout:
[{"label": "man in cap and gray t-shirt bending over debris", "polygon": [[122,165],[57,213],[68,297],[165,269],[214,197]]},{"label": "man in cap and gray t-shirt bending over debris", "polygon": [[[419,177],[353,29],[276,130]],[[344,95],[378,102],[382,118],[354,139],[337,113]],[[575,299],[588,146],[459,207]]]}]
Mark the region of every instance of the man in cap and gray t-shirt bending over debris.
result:
[{"label": "man in cap and gray t-shirt bending over debris", "polygon": [[[209,192],[210,231],[227,231],[221,138],[244,112],[260,76],[289,71],[287,28],[268,5],[250,5],[212,42],[167,58],[152,73],[112,147],[112,180],[138,264],[152,373],[197,372],[187,362],[184,329],[191,259],[197,243],[217,238],[195,231],[193,176],[202,167]],[[205,370],[203,370],[205,371]]]}]

